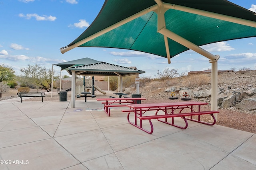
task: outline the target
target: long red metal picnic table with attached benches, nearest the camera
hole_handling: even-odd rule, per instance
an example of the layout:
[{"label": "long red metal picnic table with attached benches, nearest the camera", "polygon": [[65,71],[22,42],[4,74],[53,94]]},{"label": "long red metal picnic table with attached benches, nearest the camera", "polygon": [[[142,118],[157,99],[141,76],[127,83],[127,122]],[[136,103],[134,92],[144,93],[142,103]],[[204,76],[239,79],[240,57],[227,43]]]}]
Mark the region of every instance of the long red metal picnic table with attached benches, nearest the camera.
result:
[{"label": "long red metal picnic table with attached benches, nearest the camera", "polygon": [[[196,121],[199,123],[203,123],[206,125],[214,125],[216,123],[216,119],[214,117],[214,113],[219,113],[219,111],[201,111],[201,105],[208,105],[208,103],[205,102],[174,102],[174,103],[154,103],[154,104],[127,104],[127,107],[130,107],[130,109],[122,110],[122,112],[128,112],[127,119],[128,122],[135,127],[138,127],[142,131],[145,131],[146,133],[153,133],[154,127],[152,124],[151,119],[157,119],[158,121],[161,121],[163,123],[167,123],[169,125],[179,127],[181,129],[186,129],[188,127],[188,120]],[[198,106],[197,109],[193,108],[193,106]],[[186,110],[185,113],[182,113],[183,110]],[[158,112],[162,110],[165,114],[158,115]],[[175,110],[180,110],[179,113],[174,113]],[[155,115],[144,115],[147,111],[156,111]],[[134,123],[130,121],[130,113],[134,113]],[[213,118],[212,123],[204,122],[200,120],[200,115],[210,114]],[[186,117],[190,116],[190,117]],[[193,119],[193,116],[198,116],[197,119]],[[182,117],[185,121],[185,126],[179,126],[174,124],[174,117]],[[168,122],[168,118],[172,118],[171,122]],[[142,126],[142,120],[148,120],[150,123],[151,130],[148,131],[143,128]],[[139,122],[139,125],[137,125],[137,122]]]}]

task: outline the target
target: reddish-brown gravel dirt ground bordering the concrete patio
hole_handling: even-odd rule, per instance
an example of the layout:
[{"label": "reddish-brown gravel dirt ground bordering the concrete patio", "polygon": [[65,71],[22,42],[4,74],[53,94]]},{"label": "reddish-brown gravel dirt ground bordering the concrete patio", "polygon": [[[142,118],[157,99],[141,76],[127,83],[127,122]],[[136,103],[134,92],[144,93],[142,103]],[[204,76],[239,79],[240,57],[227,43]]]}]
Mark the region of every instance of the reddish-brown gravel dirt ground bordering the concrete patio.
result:
[{"label": "reddish-brown gravel dirt ground bordering the concrete patio", "polygon": [[[34,91],[32,89],[31,91]],[[45,90],[42,90],[45,92]],[[114,92],[108,92],[106,95],[103,95],[100,92],[96,92],[96,98],[108,98],[108,96],[115,96],[113,94]],[[9,92],[4,93],[2,100],[12,98],[12,97],[17,97],[17,90],[16,89],[11,89]],[[144,98],[147,98],[147,96],[142,96]],[[87,100],[96,100],[96,98],[87,98]],[[41,98],[31,98],[31,99],[25,99],[23,98],[22,101],[41,101]],[[60,96],[57,95],[56,92],[53,92],[53,97],[51,97],[51,94],[47,94],[46,97],[44,97],[44,101],[59,101]],[[71,100],[71,94],[68,92],[68,101]],[[76,98],[76,100],[84,100],[84,98]],[[147,100],[142,100],[142,103],[152,103],[152,102],[159,102],[159,103],[164,103],[164,102],[181,102],[182,100],[169,100],[166,97],[162,98],[147,98]],[[103,106],[103,105],[102,105]],[[211,106],[203,106],[201,107],[201,110],[210,110]],[[256,114],[253,113],[248,113],[247,111],[238,111],[234,109],[219,109],[220,113],[218,114],[218,122],[216,124],[222,125],[225,127],[231,127],[234,129],[239,129],[242,131],[248,131],[251,133],[256,133]],[[209,121],[210,117],[208,115],[204,115],[201,117],[203,121]]]}]

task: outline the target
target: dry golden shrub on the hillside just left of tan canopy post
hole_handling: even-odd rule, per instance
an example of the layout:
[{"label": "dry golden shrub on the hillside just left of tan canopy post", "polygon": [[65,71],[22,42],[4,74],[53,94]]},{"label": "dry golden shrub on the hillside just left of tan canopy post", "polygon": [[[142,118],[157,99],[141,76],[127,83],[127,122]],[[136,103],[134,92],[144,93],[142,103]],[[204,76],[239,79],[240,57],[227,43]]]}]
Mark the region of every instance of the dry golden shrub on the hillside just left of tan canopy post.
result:
[{"label": "dry golden shrub on the hillside just left of tan canopy post", "polygon": [[192,75],[184,77],[182,85],[185,87],[197,87],[202,85],[207,85],[211,81],[208,74]]}]

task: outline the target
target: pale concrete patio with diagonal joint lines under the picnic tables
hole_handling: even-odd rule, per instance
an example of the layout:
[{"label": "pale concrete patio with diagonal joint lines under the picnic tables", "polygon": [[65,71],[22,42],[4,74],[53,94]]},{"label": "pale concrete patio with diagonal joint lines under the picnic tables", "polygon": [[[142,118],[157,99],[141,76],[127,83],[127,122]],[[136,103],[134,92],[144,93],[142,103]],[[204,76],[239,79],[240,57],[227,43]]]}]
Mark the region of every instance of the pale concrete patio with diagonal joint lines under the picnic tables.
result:
[{"label": "pale concrete patio with diagonal joint lines under the picnic tables", "polygon": [[[152,120],[150,135],[101,102],[0,101],[1,170],[255,170],[256,135]],[[180,118],[178,118],[180,119]],[[180,119],[182,121],[182,119]]]}]

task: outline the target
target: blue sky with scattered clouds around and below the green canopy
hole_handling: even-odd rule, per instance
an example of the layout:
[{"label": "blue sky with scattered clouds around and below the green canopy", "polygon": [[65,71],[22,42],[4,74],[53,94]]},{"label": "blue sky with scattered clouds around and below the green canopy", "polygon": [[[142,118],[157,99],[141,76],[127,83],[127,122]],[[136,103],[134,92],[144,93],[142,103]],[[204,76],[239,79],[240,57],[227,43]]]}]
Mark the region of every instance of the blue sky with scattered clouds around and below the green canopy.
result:
[{"label": "blue sky with scattered clouds around and below the green canopy", "polygon": [[[256,12],[255,0],[230,0]],[[179,73],[211,68],[208,59],[191,50],[167,59],[146,53],[108,48],[75,48],[64,54],[64,47],[76,39],[94,21],[104,0],[0,0],[0,64],[11,66],[16,75],[28,64],[52,68],[52,64],[81,58],[122,66],[136,66],[152,76],[164,68]],[[256,37],[224,41],[202,46],[220,55],[219,70],[256,69]],[[143,64],[142,64],[143,63]],[[60,67],[54,66],[60,74]],[[62,71],[62,75],[68,74]]]}]

